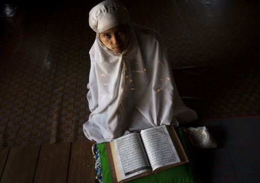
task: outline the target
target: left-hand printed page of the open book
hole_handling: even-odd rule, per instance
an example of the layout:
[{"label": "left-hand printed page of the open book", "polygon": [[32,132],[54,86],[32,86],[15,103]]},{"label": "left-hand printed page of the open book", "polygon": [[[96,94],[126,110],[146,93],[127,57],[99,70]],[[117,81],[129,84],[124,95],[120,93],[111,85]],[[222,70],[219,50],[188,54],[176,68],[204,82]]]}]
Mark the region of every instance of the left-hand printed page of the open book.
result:
[{"label": "left-hand printed page of the open book", "polygon": [[122,179],[151,171],[139,134],[120,137],[114,144]]}]

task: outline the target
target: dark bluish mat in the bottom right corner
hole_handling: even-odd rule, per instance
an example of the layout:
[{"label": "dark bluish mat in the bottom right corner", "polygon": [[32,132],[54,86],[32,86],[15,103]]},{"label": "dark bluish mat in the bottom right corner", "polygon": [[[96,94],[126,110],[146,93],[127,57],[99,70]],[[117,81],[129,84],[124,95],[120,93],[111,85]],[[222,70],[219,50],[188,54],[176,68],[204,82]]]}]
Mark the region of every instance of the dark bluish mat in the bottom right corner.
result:
[{"label": "dark bluish mat in the bottom right corner", "polygon": [[194,166],[203,182],[260,181],[260,116],[200,119],[218,143],[215,149],[193,149]]}]

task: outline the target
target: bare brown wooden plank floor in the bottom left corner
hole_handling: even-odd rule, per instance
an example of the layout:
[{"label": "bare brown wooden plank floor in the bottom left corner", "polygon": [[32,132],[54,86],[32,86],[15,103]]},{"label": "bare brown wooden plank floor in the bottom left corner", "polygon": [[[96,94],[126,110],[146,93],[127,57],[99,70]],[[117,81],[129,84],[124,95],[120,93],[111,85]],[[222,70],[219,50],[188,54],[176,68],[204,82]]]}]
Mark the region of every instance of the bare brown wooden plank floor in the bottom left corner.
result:
[{"label": "bare brown wooden plank floor in the bottom left corner", "polygon": [[92,141],[0,149],[0,183],[95,182]]}]

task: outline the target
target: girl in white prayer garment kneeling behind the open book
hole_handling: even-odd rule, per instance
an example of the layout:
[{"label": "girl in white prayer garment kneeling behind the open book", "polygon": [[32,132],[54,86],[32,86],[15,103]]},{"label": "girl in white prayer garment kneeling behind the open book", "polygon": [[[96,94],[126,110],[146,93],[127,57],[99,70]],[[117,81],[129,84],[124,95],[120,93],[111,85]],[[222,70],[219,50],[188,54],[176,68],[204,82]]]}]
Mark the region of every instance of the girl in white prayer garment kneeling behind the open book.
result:
[{"label": "girl in white prayer garment kneeling behind the open book", "polygon": [[90,50],[91,115],[85,136],[98,143],[129,131],[191,122],[196,112],[182,102],[159,34],[129,23],[125,6],[104,1],[90,11],[97,33]]}]

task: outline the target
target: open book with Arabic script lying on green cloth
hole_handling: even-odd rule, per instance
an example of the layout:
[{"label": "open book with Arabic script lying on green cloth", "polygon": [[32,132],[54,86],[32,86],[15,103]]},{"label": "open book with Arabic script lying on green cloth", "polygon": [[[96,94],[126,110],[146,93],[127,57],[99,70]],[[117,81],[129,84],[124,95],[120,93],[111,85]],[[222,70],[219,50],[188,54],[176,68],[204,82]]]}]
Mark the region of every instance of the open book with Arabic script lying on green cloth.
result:
[{"label": "open book with Arabic script lying on green cloth", "polygon": [[106,144],[113,182],[125,182],[188,162],[172,126],[157,126]]}]

